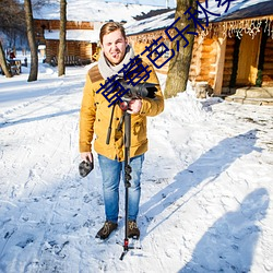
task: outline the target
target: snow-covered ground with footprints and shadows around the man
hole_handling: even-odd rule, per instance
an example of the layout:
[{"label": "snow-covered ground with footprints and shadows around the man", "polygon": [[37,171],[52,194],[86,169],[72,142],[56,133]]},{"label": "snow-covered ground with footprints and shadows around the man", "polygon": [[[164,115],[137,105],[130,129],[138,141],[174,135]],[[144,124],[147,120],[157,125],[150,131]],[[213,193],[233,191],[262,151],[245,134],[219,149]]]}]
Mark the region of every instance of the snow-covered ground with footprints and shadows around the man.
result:
[{"label": "snow-covered ground with footprints and shadows around the man", "polygon": [[195,99],[190,86],[149,121],[141,250],[119,260],[122,185],[119,228],[95,241],[97,158],[90,176],[78,171],[87,69],[0,75],[0,272],[273,272],[273,108]]}]

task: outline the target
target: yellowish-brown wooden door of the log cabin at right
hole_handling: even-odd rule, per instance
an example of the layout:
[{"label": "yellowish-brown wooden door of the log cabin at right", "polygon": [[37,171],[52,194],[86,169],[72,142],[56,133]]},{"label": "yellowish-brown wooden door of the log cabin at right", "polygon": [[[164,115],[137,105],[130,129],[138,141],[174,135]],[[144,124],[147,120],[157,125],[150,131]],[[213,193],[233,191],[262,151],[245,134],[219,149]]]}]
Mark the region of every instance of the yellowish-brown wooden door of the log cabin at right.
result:
[{"label": "yellowish-brown wooden door of the log cabin at right", "polygon": [[260,55],[261,33],[254,38],[248,34],[241,37],[236,85],[254,85]]}]

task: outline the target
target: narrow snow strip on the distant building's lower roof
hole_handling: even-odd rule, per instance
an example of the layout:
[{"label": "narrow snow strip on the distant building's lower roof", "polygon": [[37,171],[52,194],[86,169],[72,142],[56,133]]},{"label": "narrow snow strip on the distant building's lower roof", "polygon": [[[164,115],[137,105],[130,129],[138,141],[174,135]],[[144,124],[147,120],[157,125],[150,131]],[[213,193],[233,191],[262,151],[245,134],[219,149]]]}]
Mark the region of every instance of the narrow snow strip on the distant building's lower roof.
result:
[{"label": "narrow snow strip on the distant building's lower roof", "polygon": [[[46,39],[59,39],[59,31],[45,31]],[[99,40],[99,31],[91,29],[68,29],[67,40],[85,40],[90,43],[97,43]]]}]

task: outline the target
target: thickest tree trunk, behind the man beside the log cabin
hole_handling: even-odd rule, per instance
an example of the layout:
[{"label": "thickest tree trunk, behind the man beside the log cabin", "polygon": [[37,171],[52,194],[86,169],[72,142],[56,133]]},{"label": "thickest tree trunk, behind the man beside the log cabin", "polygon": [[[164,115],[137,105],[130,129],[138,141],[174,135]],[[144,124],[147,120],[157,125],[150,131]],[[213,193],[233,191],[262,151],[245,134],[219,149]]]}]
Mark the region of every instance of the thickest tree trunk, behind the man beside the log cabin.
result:
[{"label": "thickest tree trunk, behind the man beside the log cabin", "polygon": [[[178,17],[180,17],[180,20],[175,26],[179,31],[182,31],[187,25],[190,25],[190,27],[183,32],[189,45],[183,47],[186,41],[180,35],[171,44],[171,48],[176,54],[169,61],[166,88],[164,91],[166,98],[176,96],[178,92],[183,92],[187,88],[194,35],[186,33],[195,32],[193,21],[188,20],[188,14],[183,14],[190,7],[192,8],[191,13],[193,13],[193,11],[197,10],[197,2],[194,0],[177,0],[175,20]],[[176,34],[177,32],[175,31],[175,35]],[[179,51],[177,51],[177,40],[179,40]]]}]

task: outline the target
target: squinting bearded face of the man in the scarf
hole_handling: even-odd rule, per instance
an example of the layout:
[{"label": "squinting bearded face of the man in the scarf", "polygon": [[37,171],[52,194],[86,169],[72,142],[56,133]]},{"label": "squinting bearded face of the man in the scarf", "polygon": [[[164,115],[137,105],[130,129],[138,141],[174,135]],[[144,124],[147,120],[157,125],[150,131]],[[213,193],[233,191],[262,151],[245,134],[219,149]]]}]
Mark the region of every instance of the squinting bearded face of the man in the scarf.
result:
[{"label": "squinting bearded face of the man in the scarf", "polygon": [[114,66],[119,64],[123,60],[127,45],[127,39],[124,39],[119,29],[103,37],[102,47],[104,55]]}]

